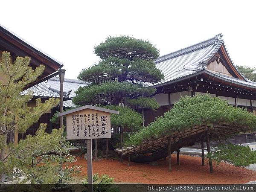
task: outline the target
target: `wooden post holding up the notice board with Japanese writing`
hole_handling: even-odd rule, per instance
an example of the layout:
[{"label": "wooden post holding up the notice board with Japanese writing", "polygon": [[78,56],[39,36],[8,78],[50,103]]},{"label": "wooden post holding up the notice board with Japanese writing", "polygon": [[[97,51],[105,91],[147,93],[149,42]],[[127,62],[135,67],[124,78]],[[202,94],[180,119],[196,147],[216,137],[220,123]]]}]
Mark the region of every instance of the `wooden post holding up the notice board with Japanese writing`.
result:
[{"label": "wooden post holding up the notice board with Japanese writing", "polygon": [[92,139],[87,140],[87,177],[88,191],[93,192],[93,154],[92,154]]}]

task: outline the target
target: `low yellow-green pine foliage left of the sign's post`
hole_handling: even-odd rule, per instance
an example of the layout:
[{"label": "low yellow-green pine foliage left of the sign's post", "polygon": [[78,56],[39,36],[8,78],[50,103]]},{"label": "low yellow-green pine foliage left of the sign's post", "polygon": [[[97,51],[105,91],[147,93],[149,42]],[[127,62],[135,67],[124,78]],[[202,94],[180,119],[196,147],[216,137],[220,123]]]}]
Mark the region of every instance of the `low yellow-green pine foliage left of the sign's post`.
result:
[{"label": "low yellow-green pine foliage left of the sign's post", "polygon": [[[41,124],[35,136],[28,135],[11,148],[5,168],[15,167],[11,175],[15,183],[54,184],[67,183],[78,167],[69,167],[76,158],[67,150],[70,144],[61,136],[62,129],[45,132],[47,124]],[[9,170],[10,173],[11,170]]]}]

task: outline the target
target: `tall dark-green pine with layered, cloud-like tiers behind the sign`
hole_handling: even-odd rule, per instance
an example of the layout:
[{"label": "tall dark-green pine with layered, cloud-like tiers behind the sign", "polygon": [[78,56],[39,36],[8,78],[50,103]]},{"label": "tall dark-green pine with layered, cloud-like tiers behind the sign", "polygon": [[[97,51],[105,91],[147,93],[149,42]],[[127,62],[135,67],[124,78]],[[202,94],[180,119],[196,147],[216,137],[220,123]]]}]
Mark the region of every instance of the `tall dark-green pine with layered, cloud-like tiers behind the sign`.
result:
[{"label": "tall dark-green pine with layered, cloud-like tiers behind the sign", "polygon": [[129,36],[108,37],[94,47],[94,52],[102,61],[79,73],[78,79],[90,85],[76,91],[76,105],[159,107],[155,99],[149,98],[155,89],[148,85],[161,81],[163,74],[153,61],[159,51],[149,41]]}]

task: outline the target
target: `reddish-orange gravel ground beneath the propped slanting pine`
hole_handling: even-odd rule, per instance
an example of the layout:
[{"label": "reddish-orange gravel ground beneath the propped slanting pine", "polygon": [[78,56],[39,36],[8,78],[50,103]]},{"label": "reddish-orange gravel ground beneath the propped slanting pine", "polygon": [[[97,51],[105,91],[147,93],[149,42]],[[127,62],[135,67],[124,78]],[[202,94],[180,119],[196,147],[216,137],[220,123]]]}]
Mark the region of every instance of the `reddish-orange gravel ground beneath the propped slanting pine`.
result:
[{"label": "reddish-orange gravel ground beneath the propped slanting pine", "polygon": [[[118,160],[93,160],[93,174],[107,174],[114,177],[116,183],[156,183],[156,184],[237,184],[256,180],[256,172],[235,167],[227,163],[213,163],[213,173],[209,173],[209,164],[201,166],[201,157],[180,155],[180,166],[176,155],[172,155],[172,172],[168,171],[168,158],[158,160],[158,166],[131,162],[128,166]],[[81,166],[79,179],[87,175],[87,161],[77,157],[73,165]]]}]

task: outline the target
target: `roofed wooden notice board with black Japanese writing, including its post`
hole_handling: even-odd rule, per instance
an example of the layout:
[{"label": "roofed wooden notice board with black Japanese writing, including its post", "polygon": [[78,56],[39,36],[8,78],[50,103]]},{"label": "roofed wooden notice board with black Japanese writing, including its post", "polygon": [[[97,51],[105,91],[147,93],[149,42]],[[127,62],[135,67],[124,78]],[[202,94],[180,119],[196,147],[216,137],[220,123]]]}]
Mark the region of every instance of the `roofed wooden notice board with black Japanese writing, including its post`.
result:
[{"label": "roofed wooden notice board with black Japanese writing, including its post", "polygon": [[92,139],[111,138],[110,113],[119,111],[85,105],[57,115],[67,116],[67,140],[87,140],[89,192],[93,191]]}]

